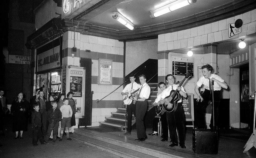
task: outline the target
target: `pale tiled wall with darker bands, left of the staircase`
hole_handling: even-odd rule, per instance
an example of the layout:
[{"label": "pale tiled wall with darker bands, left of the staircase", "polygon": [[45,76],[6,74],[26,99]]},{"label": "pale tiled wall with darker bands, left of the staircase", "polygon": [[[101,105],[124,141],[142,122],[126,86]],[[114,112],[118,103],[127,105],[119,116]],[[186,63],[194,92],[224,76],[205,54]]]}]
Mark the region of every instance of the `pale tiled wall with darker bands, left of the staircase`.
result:
[{"label": "pale tiled wall with darker bands, left of the staircase", "polygon": [[[74,36],[75,35],[75,36]],[[76,52],[72,51],[74,47]],[[85,51],[86,50],[86,51]],[[90,50],[90,52],[88,52]],[[72,58],[72,54],[74,57]],[[63,34],[62,65],[79,66],[80,57],[92,59],[92,126],[98,126],[99,122],[105,121],[105,117],[116,112],[116,108],[122,107],[123,97],[121,86],[115,92],[108,95],[123,83],[124,69],[124,43],[117,40],[83,35],[68,31]],[[98,85],[98,59],[112,59],[112,85]],[[99,103],[97,99],[104,98]]]}]

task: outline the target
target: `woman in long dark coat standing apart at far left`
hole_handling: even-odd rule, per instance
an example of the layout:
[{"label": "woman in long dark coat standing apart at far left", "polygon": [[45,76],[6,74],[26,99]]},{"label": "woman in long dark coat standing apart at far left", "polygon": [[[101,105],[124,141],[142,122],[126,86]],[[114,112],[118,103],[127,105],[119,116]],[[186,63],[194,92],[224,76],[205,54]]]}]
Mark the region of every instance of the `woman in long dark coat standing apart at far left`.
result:
[{"label": "woman in long dark coat standing apart at far left", "polygon": [[23,99],[23,93],[20,92],[17,99],[12,102],[11,106],[11,112],[13,115],[12,131],[16,133],[16,137],[14,139],[19,138],[19,131],[20,139],[23,139],[23,131],[28,130],[28,110],[29,103],[26,99]]}]

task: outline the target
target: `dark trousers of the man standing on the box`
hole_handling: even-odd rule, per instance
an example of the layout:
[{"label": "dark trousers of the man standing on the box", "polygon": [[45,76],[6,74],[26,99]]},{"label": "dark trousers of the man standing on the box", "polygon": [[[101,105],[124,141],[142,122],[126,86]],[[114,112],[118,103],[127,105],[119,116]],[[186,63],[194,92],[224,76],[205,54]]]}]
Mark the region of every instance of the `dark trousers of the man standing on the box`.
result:
[{"label": "dark trousers of the man standing on the box", "polygon": [[[218,125],[218,118],[219,118],[219,105],[220,105],[220,91],[214,91],[214,123],[215,126]],[[196,105],[195,110],[195,126],[198,128],[205,128],[205,108],[208,106],[209,101],[212,102],[212,94],[209,90],[205,89],[204,93],[202,94],[204,99],[203,102],[198,102]],[[211,117],[211,124],[210,128],[213,129],[213,108],[212,108],[212,117]]]}]

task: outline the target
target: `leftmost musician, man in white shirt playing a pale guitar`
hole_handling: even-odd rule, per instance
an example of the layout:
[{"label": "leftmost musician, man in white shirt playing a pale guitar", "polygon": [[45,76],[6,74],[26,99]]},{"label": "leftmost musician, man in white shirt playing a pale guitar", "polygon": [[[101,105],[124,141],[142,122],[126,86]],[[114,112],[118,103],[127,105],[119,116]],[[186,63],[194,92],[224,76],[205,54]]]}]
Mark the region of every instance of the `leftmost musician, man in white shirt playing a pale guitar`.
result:
[{"label": "leftmost musician, man in white shirt playing a pale guitar", "polygon": [[[132,89],[139,89],[140,85],[135,82],[135,76],[132,74],[130,75],[130,81],[128,85],[124,87],[124,90],[122,91],[122,95],[128,95]],[[124,135],[131,134],[132,130],[132,113],[134,114],[134,117],[136,117],[136,109],[135,104],[132,102],[132,104],[127,105],[127,131],[124,133]]]}]

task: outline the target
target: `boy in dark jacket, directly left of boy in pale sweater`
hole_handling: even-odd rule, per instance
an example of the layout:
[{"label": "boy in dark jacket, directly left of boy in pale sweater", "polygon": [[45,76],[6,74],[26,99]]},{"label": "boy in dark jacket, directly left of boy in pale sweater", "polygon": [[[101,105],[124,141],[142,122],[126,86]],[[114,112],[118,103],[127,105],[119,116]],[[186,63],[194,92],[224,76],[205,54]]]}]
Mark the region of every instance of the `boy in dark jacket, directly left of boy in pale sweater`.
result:
[{"label": "boy in dark jacket, directly left of boy in pale sweater", "polygon": [[47,111],[46,118],[49,122],[47,133],[44,139],[49,139],[51,132],[53,130],[53,138],[52,142],[55,143],[58,127],[61,121],[61,112],[60,109],[57,108],[58,104],[57,101],[51,101],[52,108]]}]

